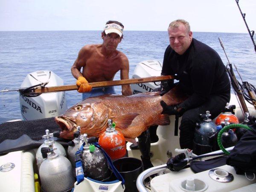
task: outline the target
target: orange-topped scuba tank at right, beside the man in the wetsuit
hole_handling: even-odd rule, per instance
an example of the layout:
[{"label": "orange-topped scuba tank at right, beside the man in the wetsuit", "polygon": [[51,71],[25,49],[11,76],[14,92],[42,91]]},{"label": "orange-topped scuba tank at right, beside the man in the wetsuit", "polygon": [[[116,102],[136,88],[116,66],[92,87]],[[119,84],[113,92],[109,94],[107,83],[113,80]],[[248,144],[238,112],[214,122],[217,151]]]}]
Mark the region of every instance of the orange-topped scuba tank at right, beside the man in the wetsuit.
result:
[{"label": "orange-topped scuba tank at right, beside the man in the wetsuit", "polygon": [[229,103],[227,103],[222,113],[216,117],[215,124],[221,125],[221,122],[224,122],[225,119],[228,119],[228,122],[230,122],[230,124],[238,124],[239,120],[235,116],[235,109],[236,105],[229,105]]}]

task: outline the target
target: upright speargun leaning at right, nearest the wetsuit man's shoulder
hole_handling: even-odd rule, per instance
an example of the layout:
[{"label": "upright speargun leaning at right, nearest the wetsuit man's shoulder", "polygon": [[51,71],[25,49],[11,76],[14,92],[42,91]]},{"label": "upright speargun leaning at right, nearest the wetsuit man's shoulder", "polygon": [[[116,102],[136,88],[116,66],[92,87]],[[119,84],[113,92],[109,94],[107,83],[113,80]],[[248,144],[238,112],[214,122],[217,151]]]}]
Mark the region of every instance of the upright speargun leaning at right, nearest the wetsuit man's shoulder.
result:
[{"label": "upright speargun leaning at right, nearest the wetsuit man's shoulder", "polygon": [[[220,41],[221,47],[224,50],[224,53],[225,53],[225,55],[227,57],[227,54],[226,54],[224,45],[223,45],[223,43],[221,41],[221,38],[218,38],[218,40]],[[228,61],[228,64],[227,64],[226,70],[227,70],[228,75],[230,76],[231,85],[233,87],[233,90],[234,90],[234,93],[236,95],[236,99],[237,99],[237,101],[239,103],[239,106],[241,108],[241,111],[242,111],[243,115],[245,115],[245,113],[249,113],[249,111],[248,111],[247,105],[245,104],[242,91],[241,91],[241,89],[239,87],[238,81],[236,80],[236,76],[235,76],[235,74],[233,72],[232,64],[230,63],[228,57],[227,57],[227,61]]]}]

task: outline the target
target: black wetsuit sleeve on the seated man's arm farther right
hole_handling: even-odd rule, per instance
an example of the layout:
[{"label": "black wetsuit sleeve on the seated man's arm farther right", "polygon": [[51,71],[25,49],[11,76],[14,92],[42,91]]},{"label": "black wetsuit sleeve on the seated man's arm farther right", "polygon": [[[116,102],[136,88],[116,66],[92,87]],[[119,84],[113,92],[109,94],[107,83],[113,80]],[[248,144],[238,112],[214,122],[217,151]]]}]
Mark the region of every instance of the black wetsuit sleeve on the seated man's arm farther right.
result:
[{"label": "black wetsuit sleeve on the seated man's arm farther right", "polygon": [[212,58],[212,61],[207,61],[204,58],[195,58],[190,68],[194,93],[178,105],[178,108],[189,110],[207,101],[212,90],[216,62],[215,58]]}]

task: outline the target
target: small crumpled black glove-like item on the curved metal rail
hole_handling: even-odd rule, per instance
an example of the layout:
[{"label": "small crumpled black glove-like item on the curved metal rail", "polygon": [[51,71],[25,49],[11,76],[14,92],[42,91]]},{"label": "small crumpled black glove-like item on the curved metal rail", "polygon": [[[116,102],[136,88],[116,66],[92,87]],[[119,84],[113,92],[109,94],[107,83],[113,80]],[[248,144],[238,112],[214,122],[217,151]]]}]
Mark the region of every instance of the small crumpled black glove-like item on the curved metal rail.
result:
[{"label": "small crumpled black glove-like item on the curved metal rail", "polygon": [[172,172],[178,172],[187,165],[187,161],[184,160],[186,155],[184,153],[178,154],[175,157],[170,158],[166,165]]}]

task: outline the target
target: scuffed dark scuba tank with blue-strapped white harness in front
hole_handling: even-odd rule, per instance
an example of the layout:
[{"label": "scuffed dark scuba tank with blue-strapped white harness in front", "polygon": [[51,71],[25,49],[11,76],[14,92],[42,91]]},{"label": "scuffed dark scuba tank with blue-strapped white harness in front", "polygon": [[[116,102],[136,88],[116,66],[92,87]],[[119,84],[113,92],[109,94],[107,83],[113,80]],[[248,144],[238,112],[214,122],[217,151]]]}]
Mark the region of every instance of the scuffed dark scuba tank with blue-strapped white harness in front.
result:
[{"label": "scuffed dark scuba tank with blue-strapped white harness in front", "polygon": [[85,142],[76,152],[77,181],[74,183],[73,192],[123,192],[125,180],[114,167],[111,158],[96,143],[95,138],[90,137],[87,140],[86,137],[87,134],[84,134],[82,140]]}]

